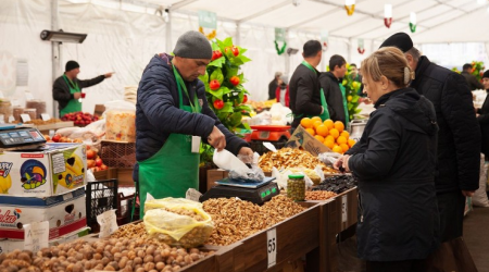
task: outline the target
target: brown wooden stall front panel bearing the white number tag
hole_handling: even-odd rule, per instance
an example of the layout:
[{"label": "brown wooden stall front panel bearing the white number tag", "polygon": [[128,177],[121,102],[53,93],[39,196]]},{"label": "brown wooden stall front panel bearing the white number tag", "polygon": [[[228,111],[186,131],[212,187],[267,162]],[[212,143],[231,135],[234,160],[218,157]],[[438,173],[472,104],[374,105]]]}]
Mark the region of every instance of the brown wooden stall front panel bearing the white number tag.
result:
[{"label": "brown wooden stall front panel bearing the white number tag", "polygon": [[[220,268],[226,268],[220,271],[279,272],[288,262],[294,262],[305,255],[308,255],[306,271],[317,271],[319,259],[312,257],[318,256],[319,251],[319,221],[317,220],[319,205],[311,202],[300,202],[300,205],[308,210],[240,240],[237,245],[234,244],[233,257],[225,260],[228,264],[222,264],[223,258],[217,257]],[[277,257],[276,264],[268,269],[267,232],[273,228],[277,237]],[[229,264],[229,259],[233,259],[234,265]],[[230,268],[233,269],[229,270]]]}]

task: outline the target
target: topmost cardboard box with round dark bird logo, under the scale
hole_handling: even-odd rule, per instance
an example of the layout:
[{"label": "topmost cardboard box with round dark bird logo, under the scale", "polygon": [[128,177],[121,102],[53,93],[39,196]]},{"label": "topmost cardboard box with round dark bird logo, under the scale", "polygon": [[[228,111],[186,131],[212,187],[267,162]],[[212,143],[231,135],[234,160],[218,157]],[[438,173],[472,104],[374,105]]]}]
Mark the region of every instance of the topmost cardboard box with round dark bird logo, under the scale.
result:
[{"label": "topmost cardboard box with round dark bird logo, under the scale", "polygon": [[49,144],[45,150],[0,154],[0,196],[50,197],[85,186],[85,145]]}]

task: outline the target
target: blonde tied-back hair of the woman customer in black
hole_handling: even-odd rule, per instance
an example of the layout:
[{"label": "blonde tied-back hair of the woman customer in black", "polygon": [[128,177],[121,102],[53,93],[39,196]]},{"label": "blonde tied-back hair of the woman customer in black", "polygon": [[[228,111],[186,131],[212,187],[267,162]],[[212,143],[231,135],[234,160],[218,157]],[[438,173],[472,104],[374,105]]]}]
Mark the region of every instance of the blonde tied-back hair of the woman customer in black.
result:
[{"label": "blonde tied-back hair of the woman customer in black", "polygon": [[362,76],[368,76],[379,82],[384,75],[397,87],[406,87],[414,73],[408,64],[404,53],[396,47],[384,47],[362,61],[360,69]]}]

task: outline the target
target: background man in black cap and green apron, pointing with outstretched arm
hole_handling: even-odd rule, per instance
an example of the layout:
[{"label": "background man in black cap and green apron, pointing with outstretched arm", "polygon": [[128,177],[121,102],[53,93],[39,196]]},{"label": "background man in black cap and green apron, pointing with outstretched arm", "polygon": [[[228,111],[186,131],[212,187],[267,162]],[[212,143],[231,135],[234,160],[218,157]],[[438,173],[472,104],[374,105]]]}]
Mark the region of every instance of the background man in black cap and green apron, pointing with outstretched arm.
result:
[{"label": "background man in black cap and green apron, pointing with outstretched arm", "polygon": [[65,72],[54,81],[52,86],[52,98],[58,101],[60,116],[66,113],[82,111],[82,89],[88,88],[103,82],[112,76],[112,73],[99,75],[91,79],[82,81],[77,78],[79,64],[76,61],[66,62]]}]

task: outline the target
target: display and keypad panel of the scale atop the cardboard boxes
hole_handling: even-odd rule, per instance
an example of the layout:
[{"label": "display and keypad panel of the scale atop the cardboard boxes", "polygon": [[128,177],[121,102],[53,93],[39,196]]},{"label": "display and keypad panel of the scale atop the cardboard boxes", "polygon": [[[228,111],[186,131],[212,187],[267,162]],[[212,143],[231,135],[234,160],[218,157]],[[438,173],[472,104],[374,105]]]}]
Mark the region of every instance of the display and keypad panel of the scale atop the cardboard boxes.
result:
[{"label": "display and keypad panel of the scale atop the cardboard boxes", "polygon": [[0,129],[0,148],[14,148],[46,143],[42,134],[34,127]]}]

